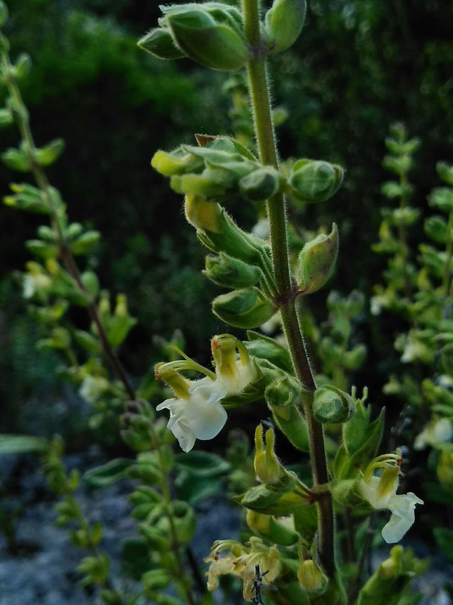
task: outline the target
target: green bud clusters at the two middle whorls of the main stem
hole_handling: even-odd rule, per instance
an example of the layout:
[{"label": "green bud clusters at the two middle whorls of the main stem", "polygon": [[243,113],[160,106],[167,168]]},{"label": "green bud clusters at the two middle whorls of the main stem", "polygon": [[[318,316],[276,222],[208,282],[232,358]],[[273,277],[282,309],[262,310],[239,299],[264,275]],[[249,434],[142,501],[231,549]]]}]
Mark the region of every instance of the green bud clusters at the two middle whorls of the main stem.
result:
[{"label": "green bud clusters at the two middle whorls of the main stem", "polygon": [[[260,203],[278,191],[299,203],[322,201],[338,189],[342,171],[324,162],[300,160],[286,178],[270,166],[261,166],[237,140],[197,138],[199,147],[182,145],[170,153],[156,152],[152,165],[170,177],[175,191],[185,194],[188,222],[196,228],[199,240],[218,255],[207,257],[205,275],[233,289],[214,299],[213,312],[234,327],[254,328],[269,321],[278,307],[270,249],[262,238],[237,227],[219,201],[240,195]],[[297,295],[324,286],[332,275],[337,253],[334,224],[330,235],[319,235],[301,250]]]}]

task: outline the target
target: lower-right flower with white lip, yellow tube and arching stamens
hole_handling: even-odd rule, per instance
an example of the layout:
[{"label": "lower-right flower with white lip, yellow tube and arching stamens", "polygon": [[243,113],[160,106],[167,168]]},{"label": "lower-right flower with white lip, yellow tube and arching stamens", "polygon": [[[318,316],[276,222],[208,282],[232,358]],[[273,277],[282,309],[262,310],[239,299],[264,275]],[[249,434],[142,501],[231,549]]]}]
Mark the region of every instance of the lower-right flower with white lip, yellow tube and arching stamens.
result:
[{"label": "lower-right flower with white lip, yellow tube and arching stamens", "polygon": [[[390,521],[382,528],[382,537],[388,544],[401,540],[415,521],[416,504],[423,504],[413,492],[396,494],[402,462],[399,451],[378,456],[367,466],[359,483],[359,492],[373,508],[391,511]],[[381,476],[375,476],[374,471],[381,468]]]}]

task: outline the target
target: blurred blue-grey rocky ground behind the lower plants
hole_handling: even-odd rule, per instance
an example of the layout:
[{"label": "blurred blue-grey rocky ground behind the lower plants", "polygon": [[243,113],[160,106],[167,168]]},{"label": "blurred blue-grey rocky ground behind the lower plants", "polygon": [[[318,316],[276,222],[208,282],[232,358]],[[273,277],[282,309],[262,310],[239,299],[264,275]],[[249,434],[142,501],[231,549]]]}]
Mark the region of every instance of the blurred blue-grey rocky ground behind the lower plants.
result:
[{"label": "blurred blue-grey rocky ground behind the lower plants", "polygon": [[[103,462],[100,451],[91,448],[83,454],[67,456],[68,468],[82,470]],[[37,460],[31,456],[0,457],[3,480],[16,485],[24,503],[24,512],[18,518],[17,538],[22,545],[18,556],[7,554],[4,537],[0,537],[0,605],[97,605],[95,595],[89,595],[79,586],[74,572],[81,552],[69,543],[66,531],[53,525],[53,506],[56,499],[47,490],[45,480],[37,470]],[[127,481],[108,489],[91,491],[82,485],[77,497],[91,520],[102,520],[105,526],[101,547],[112,557],[113,576],[133,593],[137,585],[127,584],[120,569],[121,539],[136,535],[135,522],[129,518]],[[193,540],[196,558],[202,561],[213,540],[236,535],[239,530],[237,511],[223,499],[209,500],[198,507],[198,531]],[[428,554],[423,545],[415,543],[419,555]],[[387,556],[388,549],[377,552],[373,564]],[[444,558],[435,556],[431,571],[417,587],[423,593],[423,605],[449,605],[443,590],[445,581],[453,582],[453,569]]]}]

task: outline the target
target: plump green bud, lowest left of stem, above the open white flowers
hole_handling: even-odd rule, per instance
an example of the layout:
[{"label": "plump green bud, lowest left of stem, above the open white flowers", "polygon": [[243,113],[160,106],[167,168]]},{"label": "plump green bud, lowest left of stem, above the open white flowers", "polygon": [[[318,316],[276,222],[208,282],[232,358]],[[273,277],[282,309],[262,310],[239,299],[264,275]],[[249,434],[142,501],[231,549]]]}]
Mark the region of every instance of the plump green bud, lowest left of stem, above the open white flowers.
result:
[{"label": "plump green bud, lowest left of stem, above the open white flowers", "polygon": [[236,328],[256,328],[271,319],[275,307],[257,288],[244,288],[222,294],[213,300],[213,312]]}]

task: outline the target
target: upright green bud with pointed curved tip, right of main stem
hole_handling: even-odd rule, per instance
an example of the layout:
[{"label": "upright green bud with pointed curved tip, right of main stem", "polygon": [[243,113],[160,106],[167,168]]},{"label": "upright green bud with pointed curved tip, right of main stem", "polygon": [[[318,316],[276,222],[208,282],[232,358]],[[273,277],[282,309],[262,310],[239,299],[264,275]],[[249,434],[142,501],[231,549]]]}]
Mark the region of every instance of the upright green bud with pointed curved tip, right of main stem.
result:
[{"label": "upright green bud with pointed curved tip, right of main stem", "polygon": [[337,255],[338,229],[333,223],[330,235],[318,235],[300,251],[297,285],[301,294],[311,294],[326,284],[335,269]]}]

